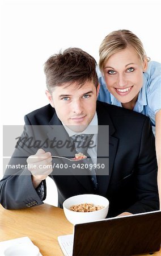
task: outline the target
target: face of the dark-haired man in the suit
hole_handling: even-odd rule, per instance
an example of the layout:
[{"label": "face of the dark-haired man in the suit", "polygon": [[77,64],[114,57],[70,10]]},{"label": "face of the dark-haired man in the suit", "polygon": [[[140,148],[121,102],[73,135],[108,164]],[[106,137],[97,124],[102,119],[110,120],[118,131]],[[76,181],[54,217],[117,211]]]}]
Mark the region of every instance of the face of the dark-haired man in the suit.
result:
[{"label": "face of the dark-haired man in the suit", "polygon": [[96,89],[92,81],[78,88],[76,82],[67,82],[56,86],[52,94],[46,92],[46,95],[63,124],[71,130],[83,131],[95,115],[99,88]]}]

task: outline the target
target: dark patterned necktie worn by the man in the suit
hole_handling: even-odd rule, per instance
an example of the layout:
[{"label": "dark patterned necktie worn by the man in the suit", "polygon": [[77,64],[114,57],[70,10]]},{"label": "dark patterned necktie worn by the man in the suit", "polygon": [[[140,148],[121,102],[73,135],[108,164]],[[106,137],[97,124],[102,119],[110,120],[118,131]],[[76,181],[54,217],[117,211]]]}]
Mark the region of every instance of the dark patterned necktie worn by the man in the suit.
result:
[{"label": "dark patterned necktie worn by the man in the suit", "polygon": [[83,162],[84,164],[88,164],[89,167],[90,167],[90,164],[92,166],[91,168],[89,168],[89,174],[91,176],[91,181],[92,181],[92,184],[94,185],[94,189],[96,191],[98,189],[96,171],[95,171],[95,168],[93,167],[94,163],[92,162],[90,155],[88,155],[88,153],[87,153],[88,147],[90,145],[90,141],[93,136],[94,136],[94,134],[79,134],[79,135],[71,136],[70,138],[74,143],[75,150],[78,153],[81,152],[87,156],[87,158],[82,159],[81,162]]}]

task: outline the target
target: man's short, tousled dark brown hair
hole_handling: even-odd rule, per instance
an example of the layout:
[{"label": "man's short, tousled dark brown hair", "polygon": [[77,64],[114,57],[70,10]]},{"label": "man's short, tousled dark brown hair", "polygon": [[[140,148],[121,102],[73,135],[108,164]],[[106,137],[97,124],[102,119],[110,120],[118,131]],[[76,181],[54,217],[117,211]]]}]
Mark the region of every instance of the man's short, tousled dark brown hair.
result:
[{"label": "man's short, tousled dark brown hair", "polygon": [[81,87],[84,82],[93,81],[98,87],[96,61],[80,48],[68,48],[50,56],[44,64],[44,72],[49,92],[66,82],[76,82]]}]

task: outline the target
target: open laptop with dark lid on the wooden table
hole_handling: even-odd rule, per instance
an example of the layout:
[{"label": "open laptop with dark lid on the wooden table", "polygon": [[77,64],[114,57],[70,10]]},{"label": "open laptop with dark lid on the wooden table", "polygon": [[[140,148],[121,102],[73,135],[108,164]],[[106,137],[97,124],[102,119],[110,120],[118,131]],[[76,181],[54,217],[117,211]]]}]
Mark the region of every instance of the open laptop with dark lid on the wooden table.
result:
[{"label": "open laptop with dark lid on the wooden table", "polygon": [[66,256],[153,253],[160,250],[161,210],[76,224],[58,242]]}]

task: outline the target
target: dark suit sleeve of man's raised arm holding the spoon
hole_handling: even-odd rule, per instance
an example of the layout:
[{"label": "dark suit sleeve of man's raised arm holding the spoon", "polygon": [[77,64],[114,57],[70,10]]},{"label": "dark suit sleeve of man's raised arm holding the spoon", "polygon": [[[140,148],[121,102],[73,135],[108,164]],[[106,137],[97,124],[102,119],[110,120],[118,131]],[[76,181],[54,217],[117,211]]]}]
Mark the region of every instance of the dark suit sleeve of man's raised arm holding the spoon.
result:
[{"label": "dark suit sleeve of man's raised arm holding the spoon", "polygon": [[[24,143],[24,139],[19,141],[8,164],[12,168],[6,169],[3,179],[0,181],[0,201],[6,209],[21,209],[43,204],[36,189],[33,187],[31,172],[26,167],[28,156],[36,152],[31,147],[28,147],[28,139],[33,138],[33,132],[27,116],[25,117],[25,121],[26,125],[20,138],[25,138],[26,143]],[[15,166],[19,168],[14,168]],[[20,168],[22,166],[24,168]],[[46,185],[45,181],[42,183],[44,200],[46,196]]]}]

